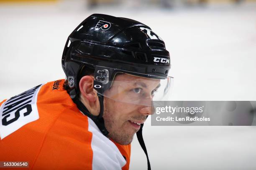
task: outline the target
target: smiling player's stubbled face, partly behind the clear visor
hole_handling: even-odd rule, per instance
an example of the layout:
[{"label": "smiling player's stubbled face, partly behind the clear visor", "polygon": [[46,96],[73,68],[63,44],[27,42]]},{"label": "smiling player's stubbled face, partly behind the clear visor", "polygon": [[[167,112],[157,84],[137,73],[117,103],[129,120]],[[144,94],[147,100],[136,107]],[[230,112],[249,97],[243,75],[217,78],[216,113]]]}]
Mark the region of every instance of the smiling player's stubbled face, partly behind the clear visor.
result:
[{"label": "smiling player's stubbled face, partly behind the clear visor", "polygon": [[121,74],[104,97],[104,121],[110,138],[128,145],[151,112],[151,100],[160,80]]}]

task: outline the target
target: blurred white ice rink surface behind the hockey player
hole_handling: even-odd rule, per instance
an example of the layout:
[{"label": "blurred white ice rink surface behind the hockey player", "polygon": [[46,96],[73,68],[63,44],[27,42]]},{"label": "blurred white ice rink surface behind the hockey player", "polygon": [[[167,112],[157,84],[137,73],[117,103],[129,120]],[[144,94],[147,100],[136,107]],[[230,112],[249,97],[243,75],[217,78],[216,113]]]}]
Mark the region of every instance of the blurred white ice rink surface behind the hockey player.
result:
[{"label": "blurred white ice rink surface behind the hockey player", "polygon": [[[0,100],[64,78],[67,37],[93,13],[138,20],[166,42],[170,100],[256,100],[256,0],[0,0]],[[149,117],[143,129],[153,170],[256,169],[254,126],[151,126]],[[130,168],[147,168],[136,138]]]}]

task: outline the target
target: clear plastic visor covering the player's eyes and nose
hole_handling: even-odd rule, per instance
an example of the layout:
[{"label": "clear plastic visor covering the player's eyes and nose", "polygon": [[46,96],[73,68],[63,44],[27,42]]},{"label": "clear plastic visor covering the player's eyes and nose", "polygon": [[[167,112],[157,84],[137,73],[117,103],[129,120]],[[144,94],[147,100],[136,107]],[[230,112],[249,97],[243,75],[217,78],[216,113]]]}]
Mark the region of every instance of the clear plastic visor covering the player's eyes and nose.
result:
[{"label": "clear plastic visor covering the player's eyes and nose", "polygon": [[118,74],[111,87],[103,94],[116,102],[151,106],[152,101],[168,100],[171,95],[173,77],[145,78],[130,74]]}]

